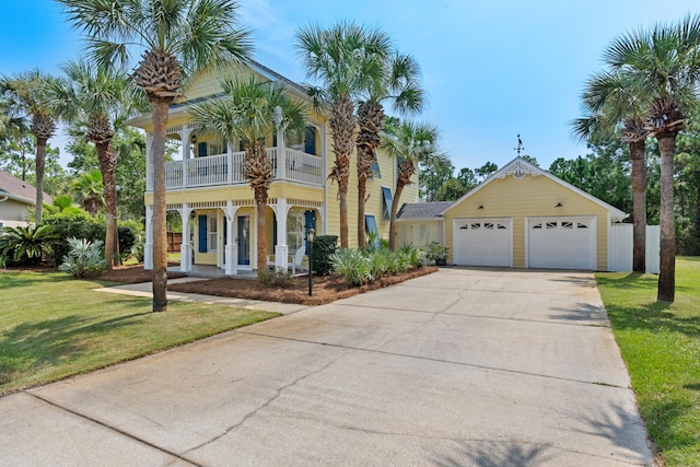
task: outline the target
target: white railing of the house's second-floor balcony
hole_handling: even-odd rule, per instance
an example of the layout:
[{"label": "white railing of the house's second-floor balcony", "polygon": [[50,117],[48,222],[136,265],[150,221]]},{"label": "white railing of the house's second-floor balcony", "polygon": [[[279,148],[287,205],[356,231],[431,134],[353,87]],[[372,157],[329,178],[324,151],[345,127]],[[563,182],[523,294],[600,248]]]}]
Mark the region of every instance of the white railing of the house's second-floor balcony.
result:
[{"label": "white railing of the house's second-floor balcony", "polygon": [[[282,152],[282,154],[280,154]],[[276,182],[323,186],[323,159],[291,148],[268,148]],[[165,164],[165,188],[245,185],[244,151],[173,161]],[[152,187],[149,187],[152,189]]]}]

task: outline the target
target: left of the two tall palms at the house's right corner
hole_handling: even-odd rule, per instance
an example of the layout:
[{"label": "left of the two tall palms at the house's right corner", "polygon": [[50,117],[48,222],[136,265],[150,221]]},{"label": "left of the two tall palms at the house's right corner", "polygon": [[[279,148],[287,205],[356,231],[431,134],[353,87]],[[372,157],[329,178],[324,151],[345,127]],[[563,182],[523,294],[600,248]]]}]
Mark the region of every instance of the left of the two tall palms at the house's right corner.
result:
[{"label": "left of the two tall palms at the house's right corner", "polygon": [[319,80],[322,86],[307,86],[316,107],[330,108],[330,132],[335,164],[328,178],[338,183],[340,211],[340,246],[348,247],[348,185],[350,159],[355,144],[353,97],[360,90],[369,89],[374,65],[384,61],[389,50],[385,34],[370,31],[354,23],[341,22],[322,30],[316,25],[302,27],[296,33],[296,49],[306,75]]}]

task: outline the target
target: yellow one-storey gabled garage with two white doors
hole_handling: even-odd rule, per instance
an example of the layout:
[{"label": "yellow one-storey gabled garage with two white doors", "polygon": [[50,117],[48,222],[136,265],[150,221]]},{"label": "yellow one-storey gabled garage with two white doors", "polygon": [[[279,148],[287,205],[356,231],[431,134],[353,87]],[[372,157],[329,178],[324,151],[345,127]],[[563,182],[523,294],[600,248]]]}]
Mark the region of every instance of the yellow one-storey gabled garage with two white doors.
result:
[{"label": "yellow one-storey gabled garage with two white doors", "polygon": [[402,208],[399,245],[436,240],[466,266],[627,270],[614,260],[627,246],[611,238],[628,214],[521,157],[457,201],[424,205]]}]

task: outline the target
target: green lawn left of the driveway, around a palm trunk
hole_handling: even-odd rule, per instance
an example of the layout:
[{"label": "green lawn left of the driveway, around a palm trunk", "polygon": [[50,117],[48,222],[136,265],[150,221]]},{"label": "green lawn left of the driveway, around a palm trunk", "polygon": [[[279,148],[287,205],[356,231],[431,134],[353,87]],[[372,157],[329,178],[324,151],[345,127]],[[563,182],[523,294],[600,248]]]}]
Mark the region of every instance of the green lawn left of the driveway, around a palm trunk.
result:
[{"label": "green lawn left of the driveway, around a palm trunk", "polygon": [[0,395],[278,316],[93,292],[61,272],[0,272]]}]

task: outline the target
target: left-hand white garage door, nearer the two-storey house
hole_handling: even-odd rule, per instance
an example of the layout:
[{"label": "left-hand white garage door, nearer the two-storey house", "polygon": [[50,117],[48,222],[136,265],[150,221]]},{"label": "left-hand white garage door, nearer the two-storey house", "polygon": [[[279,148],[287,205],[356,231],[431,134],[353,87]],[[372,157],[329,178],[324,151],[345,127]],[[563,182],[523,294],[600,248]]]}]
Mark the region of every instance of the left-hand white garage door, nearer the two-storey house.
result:
[{"label": "left-hand white garage door, nearer the two-storey house", "polygon": [[455,219],[454,261],[465,266],[511,266],[511,219]]}]

